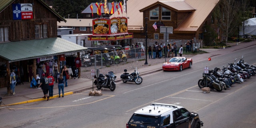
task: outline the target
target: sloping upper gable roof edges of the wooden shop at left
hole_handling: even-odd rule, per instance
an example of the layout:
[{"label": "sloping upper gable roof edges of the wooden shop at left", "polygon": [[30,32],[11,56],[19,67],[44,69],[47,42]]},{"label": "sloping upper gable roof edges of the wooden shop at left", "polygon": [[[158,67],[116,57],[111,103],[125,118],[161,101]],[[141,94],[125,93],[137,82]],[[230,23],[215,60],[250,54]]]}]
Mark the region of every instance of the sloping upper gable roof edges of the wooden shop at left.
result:
[{"label": "sloping upper gable roof edges of the wooden shop at left", "polygon": [[[9,6],[10,4],[12,4],[15,0],[0,0],[0,13],[2,12],[2,10],[4,10],[4,8],[6,8],[7,6]],[[64,21],[66,22],[65,18],[63,18],[62,16],[60,16],[60,14],[58,14],[55,10],[53,10],[52,8],[50,8],[50,6],[48,6],[43,0],[38,0],[39,2],[41,2],[46,8],[48,8],[48,10],[52,13],[54,13],[58,18],[57,21]]]}]

